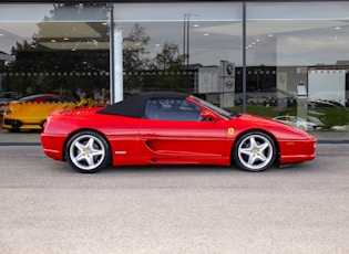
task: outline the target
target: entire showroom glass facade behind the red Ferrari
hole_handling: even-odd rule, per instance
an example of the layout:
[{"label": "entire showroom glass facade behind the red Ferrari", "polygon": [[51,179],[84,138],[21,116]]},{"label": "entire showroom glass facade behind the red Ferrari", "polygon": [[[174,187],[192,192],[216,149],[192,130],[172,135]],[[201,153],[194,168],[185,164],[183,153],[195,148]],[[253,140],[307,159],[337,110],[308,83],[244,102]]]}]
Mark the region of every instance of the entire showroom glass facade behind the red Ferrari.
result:
[{"label": "entire showroom glass facade behind the red Ferrari", "polygon": [[347,10],[347,1],[1,3],[0,93],[109,104],[179,91],[349,140]]}]

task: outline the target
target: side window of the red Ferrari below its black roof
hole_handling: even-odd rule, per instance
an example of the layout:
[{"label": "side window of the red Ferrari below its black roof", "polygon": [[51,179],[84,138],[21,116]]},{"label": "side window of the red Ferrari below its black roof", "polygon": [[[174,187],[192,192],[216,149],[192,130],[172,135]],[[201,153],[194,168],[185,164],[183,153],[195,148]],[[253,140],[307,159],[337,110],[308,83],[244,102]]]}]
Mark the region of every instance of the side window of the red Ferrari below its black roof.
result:
[{"label": "side window of the red Ferrari below its black roof", "polygon": [[202,108],[177,98],[154,98],[146,104],[145,117],[162,120],[201,120]]}]

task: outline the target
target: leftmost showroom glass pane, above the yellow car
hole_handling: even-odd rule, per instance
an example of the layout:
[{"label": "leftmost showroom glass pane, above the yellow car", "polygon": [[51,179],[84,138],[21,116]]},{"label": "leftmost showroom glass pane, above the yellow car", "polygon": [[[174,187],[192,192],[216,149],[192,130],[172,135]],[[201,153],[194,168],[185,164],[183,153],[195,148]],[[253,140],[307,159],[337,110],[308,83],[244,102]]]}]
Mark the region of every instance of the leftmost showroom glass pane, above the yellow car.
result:
[{"label": "leftmost showroom glass pane, above the yellow car", "polygon": [[1,92],[109,102],[107,4],[1,4],[0,42]]}]

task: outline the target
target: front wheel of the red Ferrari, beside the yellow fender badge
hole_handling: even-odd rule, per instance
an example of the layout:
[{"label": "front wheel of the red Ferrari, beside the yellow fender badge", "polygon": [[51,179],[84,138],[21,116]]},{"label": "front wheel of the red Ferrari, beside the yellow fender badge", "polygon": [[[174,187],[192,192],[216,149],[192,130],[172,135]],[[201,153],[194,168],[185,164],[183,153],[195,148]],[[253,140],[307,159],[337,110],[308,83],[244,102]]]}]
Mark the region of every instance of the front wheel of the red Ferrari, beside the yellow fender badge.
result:
[{"label": "front wheel of the red Ferrari, beside the yellow fender badge", "polygon": [[275,141],[269,135],[253,131],[240,136],[235,141],[233,159],[239,168],[258,172],[270,167],[277,154]]}]

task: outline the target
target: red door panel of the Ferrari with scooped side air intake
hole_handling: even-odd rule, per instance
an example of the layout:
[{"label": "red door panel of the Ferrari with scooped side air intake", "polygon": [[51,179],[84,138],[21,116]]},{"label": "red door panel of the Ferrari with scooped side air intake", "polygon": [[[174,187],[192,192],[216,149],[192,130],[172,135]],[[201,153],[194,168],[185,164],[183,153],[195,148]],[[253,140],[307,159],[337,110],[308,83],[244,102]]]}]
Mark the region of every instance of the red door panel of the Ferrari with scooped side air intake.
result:
[{"label": "red door panel of the Ferrari with scooped side air intake", "polygon": [[224,121],[171,121],[144,119],[140,129],[144,156],[151,158],[222,157]]}]

